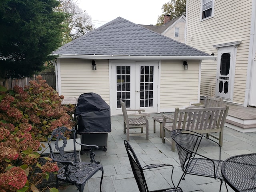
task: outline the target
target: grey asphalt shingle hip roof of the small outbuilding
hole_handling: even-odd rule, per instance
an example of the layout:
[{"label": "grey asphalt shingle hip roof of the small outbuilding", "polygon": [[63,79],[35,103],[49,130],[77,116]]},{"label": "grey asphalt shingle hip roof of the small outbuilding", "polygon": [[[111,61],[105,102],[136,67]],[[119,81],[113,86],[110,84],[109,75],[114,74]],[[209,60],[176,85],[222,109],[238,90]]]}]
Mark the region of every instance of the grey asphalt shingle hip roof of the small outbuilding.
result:
[{"label": "grey asphalt shingle hip roof of the small outbuilding", "polygon": [[121,17],[61,46],[53,54],[210,56]]}]

